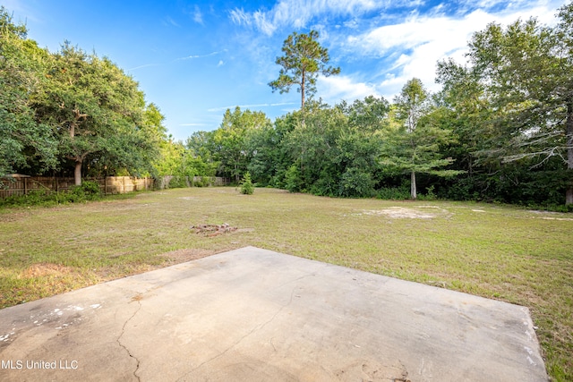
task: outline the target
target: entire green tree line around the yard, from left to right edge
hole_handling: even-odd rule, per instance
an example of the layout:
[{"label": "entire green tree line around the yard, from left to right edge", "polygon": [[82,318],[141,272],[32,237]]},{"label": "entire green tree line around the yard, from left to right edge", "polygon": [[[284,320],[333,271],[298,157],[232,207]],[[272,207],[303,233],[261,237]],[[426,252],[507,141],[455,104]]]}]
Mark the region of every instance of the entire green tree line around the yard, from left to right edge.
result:
[{"label": "entire green tree line around the yard, from left to right edge", "polygon": [[465,63],[437,63],[437,93],[413,78],[391,102],[370,96],[334,106],[312,96],[317,74],[340,69],[326,66],[317,32],[293,33],[269,86],[297,86],[300,110],[270,121],[228,109],[217,130],[180,142],[107,58],[70,44],[50,54],[3,10],[0,174],[105,169],[239,183],[249,173],[260,186],[336,197],[570,206],[573,3],[557,17],[552,27],[530,19],[476,32]]}]

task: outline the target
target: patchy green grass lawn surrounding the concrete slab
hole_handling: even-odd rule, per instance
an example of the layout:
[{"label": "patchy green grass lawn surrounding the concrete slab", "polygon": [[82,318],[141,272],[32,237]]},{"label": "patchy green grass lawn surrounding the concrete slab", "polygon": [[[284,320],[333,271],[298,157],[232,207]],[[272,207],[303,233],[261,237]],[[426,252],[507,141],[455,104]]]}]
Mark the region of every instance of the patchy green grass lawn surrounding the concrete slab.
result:
[{"label": "patchy green grass lawn surrounding the concrete slab", "polygon": [[[211,236],[193,225],[236,227]],[[253,245],[529,307],[573,380],[573,215],[447,201],[192,188],[0,210],[0,307]]]}]

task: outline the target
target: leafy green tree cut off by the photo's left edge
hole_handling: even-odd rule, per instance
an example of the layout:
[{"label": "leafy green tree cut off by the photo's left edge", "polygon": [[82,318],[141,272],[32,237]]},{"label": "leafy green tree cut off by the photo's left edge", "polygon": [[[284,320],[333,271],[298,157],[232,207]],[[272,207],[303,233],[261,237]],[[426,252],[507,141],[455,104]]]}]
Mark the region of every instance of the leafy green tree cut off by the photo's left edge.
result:
[{"label": "leafy green tree cut off by the photo's left edge", "polygon": [[56,142],[47,124],[37,123],[30,94],[45,80],[45,49],[27,38],[0,7],[0,176],[31,168],[41,173],[57,165]]}]

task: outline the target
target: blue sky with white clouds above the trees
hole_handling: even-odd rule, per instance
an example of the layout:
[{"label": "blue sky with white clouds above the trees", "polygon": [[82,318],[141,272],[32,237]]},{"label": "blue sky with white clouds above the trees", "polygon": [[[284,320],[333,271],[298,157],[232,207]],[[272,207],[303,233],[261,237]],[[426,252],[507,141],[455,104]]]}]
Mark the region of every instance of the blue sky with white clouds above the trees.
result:
[{"label": "blue sky with white clouds above the trees", "polygon": [[564,0],[0,0],[29,38],[56,52],[64,40],[109,57],[166,115],[176,140],[217,129],[227,108],[274,119],[300,106],[273,93],[275,59],[293,31],[320,32],[338,76],[317,97],[334,105],[369,95],[389,101],[417,77],[428,89],[438,60],[464,61],[472,33],[535,16],[552,24]]}]

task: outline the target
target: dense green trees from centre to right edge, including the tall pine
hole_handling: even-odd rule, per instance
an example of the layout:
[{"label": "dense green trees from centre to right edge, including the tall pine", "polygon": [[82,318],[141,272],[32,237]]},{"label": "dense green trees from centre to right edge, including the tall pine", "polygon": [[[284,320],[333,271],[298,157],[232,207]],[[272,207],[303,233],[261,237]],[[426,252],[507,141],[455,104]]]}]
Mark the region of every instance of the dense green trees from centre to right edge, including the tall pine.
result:
[{"label": "dense green trees from centre to right edge, including the tall pine", "polygon": [[301,109],[274,122],[227,110],[216,131],[193,134],[186,148],[219,175],[238,181],[249,172],[259,185],[316,195],[571,205],[573,3],[557,16],[553,27],[532,18],[476,32],[466,63],[437,63],[435,94],[414,78],[392,102],[335,106],[304,101],[305,75],[339,69],[326,68],[318,33],[294,33],[269,86],[297,85]]}]

